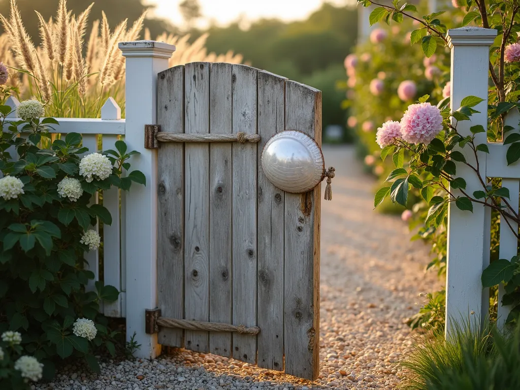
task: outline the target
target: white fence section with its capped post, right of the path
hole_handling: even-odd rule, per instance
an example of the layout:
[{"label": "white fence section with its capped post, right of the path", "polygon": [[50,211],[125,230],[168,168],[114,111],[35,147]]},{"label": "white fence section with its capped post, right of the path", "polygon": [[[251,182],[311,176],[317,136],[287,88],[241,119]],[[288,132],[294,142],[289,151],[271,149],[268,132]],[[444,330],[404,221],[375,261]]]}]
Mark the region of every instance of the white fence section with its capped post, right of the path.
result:
[{"label": "white fence section with its capped post, right of the path", "polygon": [[[485,101],[475,107],[479,114],[471,116],[470,121],[460,122],[457,126],[462,136],[471,135],[470,126],[482,125],[487,128],[487,97],[489,80],[489,47],[495,41],[496,30],[476,27],[464,27],[448,31],[451,47],[451,108],[458,109],[462,99],[469,95],[484,98]],[[511,110],[505,124],[514,127],[511,133],[520,133],[520,114]],[[510,134],[510,133],[508,133]],[[520,163],[508,165],[506,151],[509,145],[487,142],[486,133],[475,136],[475,144],[487,144],[489,154],[479,153],[480,174],[483,178],[501,178],[502,187],[511,194],[511,208],[518,212],[518,193],[520,192]],[[474,162],[471,150],[462,150],[468,162]],[[477,176],[471,168],[457,163],[457,176],[466,179],[466,192],[482,190]],[[458,190],[454,190],[458,193]],[[450,206],[453,205],[450,203]],[[517,224],[510,221],[513,229]],[[460,211],[456,206],[448,209],[448,256],[446,280],[446,332],[453,329],[453,321],[465,321],[472,318],[480,321],[488,315],[489,291],[482,289],[480,276],[489,265],[490,258],[490,207],[474,204],[473,213]],[[500,258],[508,260],[517,254],[517,239],[509,226],[502,221],[500,225]],[[502,306],[504,294],[499,287],[498,324],[503,326],[510,307]],[[475,316],[475,317],[473,317]]]}]

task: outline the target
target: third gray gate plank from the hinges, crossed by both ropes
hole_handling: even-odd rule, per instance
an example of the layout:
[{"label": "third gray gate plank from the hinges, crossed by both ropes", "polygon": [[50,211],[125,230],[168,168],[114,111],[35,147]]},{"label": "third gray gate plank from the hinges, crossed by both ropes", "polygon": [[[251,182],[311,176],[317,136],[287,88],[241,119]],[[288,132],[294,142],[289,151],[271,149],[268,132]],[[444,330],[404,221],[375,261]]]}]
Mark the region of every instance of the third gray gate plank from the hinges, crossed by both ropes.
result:
[{"label": "third gray gate plank from the hinges, crossed by both ropes", "polygon": [[[210,71],[210,133],[231,133],[232,65]],[[231,323],[231,142],[210,144],[210,322]],[[210,352],[231,356],[231,333],[210,332]]]}]

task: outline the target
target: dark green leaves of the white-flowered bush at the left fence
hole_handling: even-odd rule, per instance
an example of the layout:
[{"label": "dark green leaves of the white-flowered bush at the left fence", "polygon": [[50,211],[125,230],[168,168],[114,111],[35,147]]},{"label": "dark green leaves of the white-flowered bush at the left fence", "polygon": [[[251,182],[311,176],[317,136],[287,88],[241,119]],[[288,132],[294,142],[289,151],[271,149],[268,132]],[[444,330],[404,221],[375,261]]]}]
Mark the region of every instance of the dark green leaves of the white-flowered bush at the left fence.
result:
[{"label": "dark green leaves of the white-flowered bush at the left fence", "polygon": [[[5,107],[0,106],[0,112]],[[106,152],[112,173],[104,180],[93,177],[87,182],[79,174],[80,154],[88,152],[81,145],[81,135],[71,133],[51,142],[47,132],[51,123],[56,121],[1,118],[4,179],[0,188],[5,189],[2,180],[16,177],[23,192],[0,196],[0,332],[23,333],[23,354],[43,362],[48,375],[52,375],[53,361],[70,356],[84,358],[91,369],[99,371],[93,353],[106,348],[113,355],[117,333],[108,328],[99,305],[117,300],[119,291],[100,281],[90,282],[94,274],[85,267],[84,253],[89,250],[83,241],[85,231],[97,219],[110,225],[112,218],[105,207],[89,201],[93,193],[111,186],[128,190],[132,182],[145,184],[145,177],[139,171],[129,172],[128,159],[137,152],[128,152],[124,142],[117,141],[117,150]],[[21,129],[26,131],[23,136],[19,136]],[[126,177],[121,176],[123,169],[129,172]],[[58,192],[64,178],[78,180],[75,190],[82,193],[77,199]],[[89,283],[93,288],[87,289]],[[78,318],[94,321],[97,335],[93,340],[73,333]]]}]

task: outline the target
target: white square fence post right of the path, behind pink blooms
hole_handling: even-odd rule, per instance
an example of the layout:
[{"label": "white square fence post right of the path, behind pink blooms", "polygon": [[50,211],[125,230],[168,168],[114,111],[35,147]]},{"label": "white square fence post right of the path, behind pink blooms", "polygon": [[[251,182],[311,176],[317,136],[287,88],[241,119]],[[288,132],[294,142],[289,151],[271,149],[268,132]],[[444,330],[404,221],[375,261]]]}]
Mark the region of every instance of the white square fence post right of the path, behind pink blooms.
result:
[{"label": "white square fence post right of the path, behind pink blooms", "polygon": [[[466,96],[478,96],[485,99],[479,103],[478,114],[471,116],[471,121],[463,121],[457,125],[462,136],[471,135],[470,127],[482,125],[487,128],[487,97],[489,46],[495,41],[496,30],[476,27],[463,27],[448,30],[451,48],[451,109],[458,109]],[[452,124],[456,124],[452,119]],[[475,137],[476,144],[486,143],[486,133]],[[474,157],[470,148],[462,149],[468,162]],[[480,170],[485,178],[486,155],[479,152]],[[477,176],[462,163],[457,163],[457,175],[466,180],[466,192],[472,194],[482,190]],[[458,190],[453,190],[457,196]],[[473,213],[461,211],[454,202],[448,207],[448,254],[446,275],[446,334],[453,329],[454,321],[465,324],[479,324],[488,314],[489,301],[483,294],[480,276],[489,263],[489,246],[486,247],[485,210],[483,205],[473,204]],[[474,313],[472,316],[470,313]]]}]

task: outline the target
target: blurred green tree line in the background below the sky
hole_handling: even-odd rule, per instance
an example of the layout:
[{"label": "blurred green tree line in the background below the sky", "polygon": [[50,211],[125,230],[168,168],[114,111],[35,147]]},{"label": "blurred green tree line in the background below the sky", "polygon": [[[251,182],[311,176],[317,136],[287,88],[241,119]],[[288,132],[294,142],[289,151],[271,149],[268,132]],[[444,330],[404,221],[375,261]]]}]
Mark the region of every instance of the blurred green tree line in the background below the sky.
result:
[{"label": "blurred green tree line in the background below the sky", "polygon": [[[38,44],[38,20],[34,9],[41,12],[45,19],[54,17],[59,0],[17,0],[17,3],[28,33]],[[67,0],[67,7],[78,15],[90,3],[90,0]],[[89,22],[101,19],[101,11],[105,11],[111,28],[125,18],[131,24],[147,8],[152,7],[144,5],[142,0],[96,1]],[[152,37],[163,31],[175,34],[188,32],[191,40],[195,40],[208,32],[208,51],[220,54],[233,50],[242,54],[251,66],[322,90],[323,128],[329,124],[344,126],[345,112],[341,109],[344,91],[336,88],[336,82],[345,78],[343,59],[356,43],[355,7],[336,7],[324,3],[306,20],[283,22],[260,19],[246,30],[241,29],[240,21],[226,27],[212,25],[206,30],[194,28],[193,22],[201,16],[201,11],[203,9],[197,0],[184,0],[179,7],[186,20],[184,29],[164,19],[146,19],[145,27],[150,29]],[[0,0],[0,13],[9,15],[9,0]]]}]

